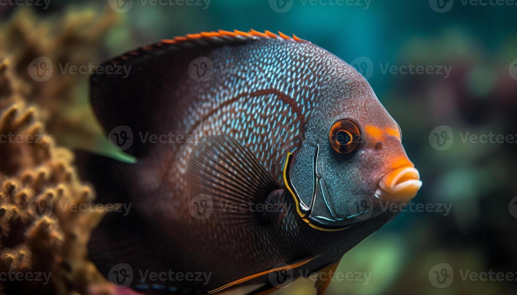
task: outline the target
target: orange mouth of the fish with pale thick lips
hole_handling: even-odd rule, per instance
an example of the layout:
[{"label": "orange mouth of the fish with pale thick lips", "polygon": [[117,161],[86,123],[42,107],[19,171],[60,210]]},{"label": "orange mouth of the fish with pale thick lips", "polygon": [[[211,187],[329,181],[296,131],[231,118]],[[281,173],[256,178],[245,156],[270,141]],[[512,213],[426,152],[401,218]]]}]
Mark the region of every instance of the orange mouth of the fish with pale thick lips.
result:
[{"label": "orange mouth of the fish with pale thick lips", "polygon": [[408,202],[422,186],[415,167],[402,166],[386,173],[379,180],[375,196],[381,200]]}]

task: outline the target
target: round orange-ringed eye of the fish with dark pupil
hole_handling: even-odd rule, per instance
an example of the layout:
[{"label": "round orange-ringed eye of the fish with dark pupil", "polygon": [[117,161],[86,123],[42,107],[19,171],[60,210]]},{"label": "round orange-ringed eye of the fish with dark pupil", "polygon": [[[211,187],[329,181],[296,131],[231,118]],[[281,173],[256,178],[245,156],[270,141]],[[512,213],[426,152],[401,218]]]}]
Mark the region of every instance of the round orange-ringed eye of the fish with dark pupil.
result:
[{"label": "round orange-ringed eye of the fish with dark pupil", "polygon": [[351,120],[341,119],[332,125],[328,139],[332,148],[339,153],[353,152],[359,142],[359,128]]}]

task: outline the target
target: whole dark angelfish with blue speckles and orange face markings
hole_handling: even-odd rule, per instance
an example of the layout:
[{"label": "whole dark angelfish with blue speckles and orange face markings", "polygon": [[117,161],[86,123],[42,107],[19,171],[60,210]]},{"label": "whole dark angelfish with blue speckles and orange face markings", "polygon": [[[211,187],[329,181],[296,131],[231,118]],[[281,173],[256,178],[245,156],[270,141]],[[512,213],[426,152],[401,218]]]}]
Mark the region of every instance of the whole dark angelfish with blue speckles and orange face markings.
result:
[{"label": "whole dark angelfish with blue speckles and orange face markings", "polygon": [[[269,293],[285,282],[271,274],[335,270],[397,214],[382,202],[408,202],[421,186],[364,77],[294,35],[191,34],[106,65],[131,71],[94,74],[92,105],[136,163],[78,161],[100,201],[132,205],[108,213],[89,242],[114,284]],[[150,275],[163,272],[184,276]]]}]

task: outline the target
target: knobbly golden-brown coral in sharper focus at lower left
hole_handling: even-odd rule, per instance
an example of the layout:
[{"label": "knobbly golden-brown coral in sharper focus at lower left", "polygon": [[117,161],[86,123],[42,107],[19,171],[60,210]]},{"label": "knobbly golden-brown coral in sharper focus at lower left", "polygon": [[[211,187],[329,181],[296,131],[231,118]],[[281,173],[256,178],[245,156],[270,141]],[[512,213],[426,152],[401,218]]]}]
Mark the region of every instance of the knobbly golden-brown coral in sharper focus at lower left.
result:
[{"label": "knobbly golden-brown coral in sharper focus at lower left", "polygon": [[103,212],[70,209],[93,200],[93,189],[79,179],[73,153],[45,133],[10,65],[0,58],[0,272],[50,278],[2,281],[0,293],[86,293],[105,283],[86,253]]}]

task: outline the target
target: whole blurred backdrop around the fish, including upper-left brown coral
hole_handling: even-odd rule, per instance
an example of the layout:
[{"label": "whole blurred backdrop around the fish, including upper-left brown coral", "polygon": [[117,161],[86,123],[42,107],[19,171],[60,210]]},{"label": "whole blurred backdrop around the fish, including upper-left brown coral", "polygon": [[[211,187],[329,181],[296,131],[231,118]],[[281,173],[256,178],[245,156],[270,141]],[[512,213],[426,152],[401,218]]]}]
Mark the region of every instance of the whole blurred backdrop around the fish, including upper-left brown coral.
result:
[{"label": "whole blurred backdrop around the fish, including upper-left brown coral", "polygon": [[[50,0],[48,7],[0,5],[2,112],[13,101],[36,105],[56,145],[123,157],[110,147],[89,106],[89,75],[54,75],[38,83],[27,72],[31,60],[47,56],[71,65],[98,65],[161,39],[217,29],[295,34],[367,77],[399,123],[404,148],[420,171],[423,186],[412,200],[414,208],[429,208],[400,213],[346,253],[337,270],[345,278],[331,282],[327,294],[517,294],[517,284],[509,276],[488,276],[484,281],[465,276],[494,272],[517,278],[517,5],[511,5],[517,2],[151,3],[156,2],[133,1],[126,12],[110,8],[107,0]],[[427,70],[418,72],[417,66]],[[483,143],[481,135],[505,139]],[[8,153],[14,151],[4,152],[0,176],[14,169],[6,165],[6,159],[14,159]],[[71,156],[59,157],[66,167],[73,162]],[[76,182],[67,185],[88,198]],[[69,218],[63,216],[62,225]],[[95,219],[78,226],[87,228]],[[84,241],[75,245],[66,236],[59,247],[84,248]],[[12,254],[14,258],[5,260],[6,251],[0,261],[18,259]],[[80,260],[82,251],[68,253],[68,261]],[[32,260],[44,267],[36,257]],[[436,277],[440,263],[452,269],[450,285]],[[88,289],[88,281],[100,280],[90,267],[82,267],[68,280],[81,286],[79,290]],[[367,274],[368,280],[356,273]],[[88,275],[88,280],[78,279]],[[313,284],[298,280],[279,293],[314,294]]]}]

